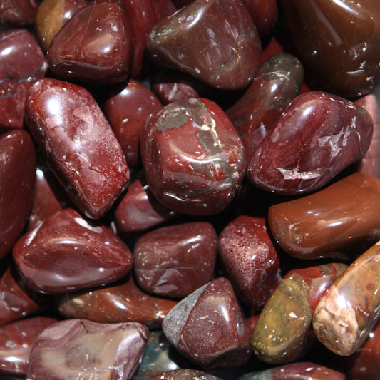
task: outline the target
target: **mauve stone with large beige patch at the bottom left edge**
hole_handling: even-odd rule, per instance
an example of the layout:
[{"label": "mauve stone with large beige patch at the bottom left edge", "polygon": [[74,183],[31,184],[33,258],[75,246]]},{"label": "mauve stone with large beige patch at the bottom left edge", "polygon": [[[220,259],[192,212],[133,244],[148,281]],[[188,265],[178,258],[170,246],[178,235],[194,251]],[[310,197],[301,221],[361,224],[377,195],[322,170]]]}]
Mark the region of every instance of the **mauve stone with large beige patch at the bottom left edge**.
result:
[{"label": "mauve stone with large beige patch at the bottom left edge", "polygon": [[143,324],[56,322],[36,339],[26,379],[131,379],[147,339]]}]

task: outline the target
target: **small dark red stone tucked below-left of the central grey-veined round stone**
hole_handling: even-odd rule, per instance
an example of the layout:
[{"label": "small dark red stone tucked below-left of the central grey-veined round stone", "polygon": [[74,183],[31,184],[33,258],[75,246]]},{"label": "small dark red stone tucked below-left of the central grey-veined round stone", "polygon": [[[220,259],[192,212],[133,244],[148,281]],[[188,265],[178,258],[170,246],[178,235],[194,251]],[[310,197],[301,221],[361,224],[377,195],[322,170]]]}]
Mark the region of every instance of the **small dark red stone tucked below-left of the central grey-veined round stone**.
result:
[{"label": "small dark red stone tucked below-left of the central grey-veined round stone", "polygon": [[128,186],[113,213],[118,234],[133,235],[173,219],[177,212],[155,199],[145,177],[137,178]]}]

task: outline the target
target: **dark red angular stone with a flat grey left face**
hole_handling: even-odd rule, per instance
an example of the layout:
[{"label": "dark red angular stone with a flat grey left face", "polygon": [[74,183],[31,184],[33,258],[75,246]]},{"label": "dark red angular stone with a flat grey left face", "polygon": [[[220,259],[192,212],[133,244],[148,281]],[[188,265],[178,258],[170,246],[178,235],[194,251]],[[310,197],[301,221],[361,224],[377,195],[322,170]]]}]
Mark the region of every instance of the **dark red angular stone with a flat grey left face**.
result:
[{"label": "dark red angular stone with a flat grey left face", "polygon": [[185,297],[163,320],[163,332],[181,354],[208,369],[250,359],[250,344],[230,282],[218,277]]}]

